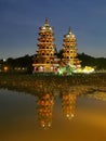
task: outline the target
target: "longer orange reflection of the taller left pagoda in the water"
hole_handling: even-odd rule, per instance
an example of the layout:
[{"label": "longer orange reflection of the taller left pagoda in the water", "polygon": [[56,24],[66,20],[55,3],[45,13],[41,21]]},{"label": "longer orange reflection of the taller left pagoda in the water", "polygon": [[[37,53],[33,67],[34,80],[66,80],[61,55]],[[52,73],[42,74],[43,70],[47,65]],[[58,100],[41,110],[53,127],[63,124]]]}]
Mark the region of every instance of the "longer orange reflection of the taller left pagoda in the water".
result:
[{"label": "longer orange reflection of the taller left pagoda in the water", "polygon": [[41,127],[49,128],[52,124],[54,97],[49,93],[42,95],[37,101],[38,121]]}]

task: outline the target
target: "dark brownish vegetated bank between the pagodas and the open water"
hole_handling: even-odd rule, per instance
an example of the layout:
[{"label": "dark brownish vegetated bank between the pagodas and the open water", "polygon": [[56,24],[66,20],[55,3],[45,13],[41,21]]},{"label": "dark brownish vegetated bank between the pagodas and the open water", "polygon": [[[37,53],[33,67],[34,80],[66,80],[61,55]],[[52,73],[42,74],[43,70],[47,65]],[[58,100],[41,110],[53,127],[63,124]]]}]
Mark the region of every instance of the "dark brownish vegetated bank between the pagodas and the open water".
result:
[{"label": "dark brownish vegetated bank between the pagodas and the open water", "polygon": [[62,92],[85,93],[106,91],[106,74],[77,74],[72,76],[0,74],[0,88],[31,94],[58,94]]}]

